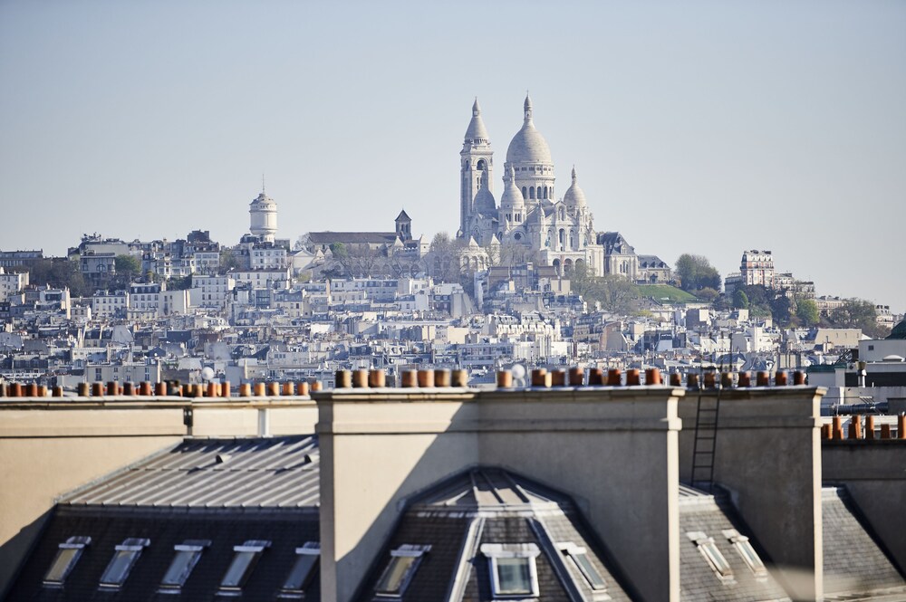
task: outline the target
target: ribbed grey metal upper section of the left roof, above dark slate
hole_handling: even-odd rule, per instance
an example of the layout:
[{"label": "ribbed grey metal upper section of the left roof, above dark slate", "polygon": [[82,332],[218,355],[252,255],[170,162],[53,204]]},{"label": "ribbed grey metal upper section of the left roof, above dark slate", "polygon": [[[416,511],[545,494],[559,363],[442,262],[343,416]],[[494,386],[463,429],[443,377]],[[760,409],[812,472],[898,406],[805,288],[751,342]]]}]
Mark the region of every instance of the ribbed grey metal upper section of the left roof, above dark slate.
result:
[{"label": "ribbed grey metal upper section of the left roof, above dark slate", "polygon": [[187,439],[72,493],[63,503],[191,508],[303,508],[320,502],[313,435]]}]

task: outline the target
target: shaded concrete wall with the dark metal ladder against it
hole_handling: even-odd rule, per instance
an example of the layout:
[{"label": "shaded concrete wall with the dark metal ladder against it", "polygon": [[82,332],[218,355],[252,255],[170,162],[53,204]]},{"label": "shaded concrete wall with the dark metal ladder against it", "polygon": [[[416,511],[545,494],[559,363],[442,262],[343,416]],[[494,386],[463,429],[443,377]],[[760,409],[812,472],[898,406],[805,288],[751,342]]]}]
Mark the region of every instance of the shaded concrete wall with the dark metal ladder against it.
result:
[{"label": "shaded concrete wall with the dark metal ladder against it", "polygon": [[[720,392],[714,482],[776,563],[794,599],[823,595],[819,412],[824,389],[737,388]],[[700,394],[713,406],[716,390]],[[679,473],[689,481],[699,393],[679,403]],[[700,478],[700,474],[697,474]]]}]

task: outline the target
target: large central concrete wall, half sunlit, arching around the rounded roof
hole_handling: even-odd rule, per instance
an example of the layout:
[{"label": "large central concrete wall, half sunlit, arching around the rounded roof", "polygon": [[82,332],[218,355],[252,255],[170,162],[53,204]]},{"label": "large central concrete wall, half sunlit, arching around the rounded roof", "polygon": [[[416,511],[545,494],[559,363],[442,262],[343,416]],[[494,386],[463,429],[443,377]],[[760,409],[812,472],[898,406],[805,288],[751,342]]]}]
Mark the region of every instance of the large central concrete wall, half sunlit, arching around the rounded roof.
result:
[{"label": "large central concrete wall, half sunlit, arching around the rounded roof", "polygon": [[352,599],[407,499],[480,463],[573,495],[643,599],[679,600],[682,393],[630,387],[314,394],[323,599]]}]

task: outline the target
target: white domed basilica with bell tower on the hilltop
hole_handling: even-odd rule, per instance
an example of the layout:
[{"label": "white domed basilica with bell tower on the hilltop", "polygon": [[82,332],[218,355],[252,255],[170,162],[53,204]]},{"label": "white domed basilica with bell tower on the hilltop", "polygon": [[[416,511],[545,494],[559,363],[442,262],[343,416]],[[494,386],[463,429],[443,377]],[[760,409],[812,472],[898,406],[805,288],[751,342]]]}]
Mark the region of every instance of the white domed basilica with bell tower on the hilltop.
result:
[{"label": "white domed basilica with bell tower on the hilltop", "polygon": [[[522,245],[539,263],[568,273],[585,264],[597,274],[616,273],[632,281],[663,282],[670,269],[657,257],[639,256],[619,233],[597,233],[575,168],[563,196],[554,190],[554,160],[535,129],[532,100],[525,97],[522,128],[506,149],[503,192],[494,196],[494,151],[472,105],[460,163],[458,237],[473,249]],[[650,271],[656,263],[657,270]]]}]

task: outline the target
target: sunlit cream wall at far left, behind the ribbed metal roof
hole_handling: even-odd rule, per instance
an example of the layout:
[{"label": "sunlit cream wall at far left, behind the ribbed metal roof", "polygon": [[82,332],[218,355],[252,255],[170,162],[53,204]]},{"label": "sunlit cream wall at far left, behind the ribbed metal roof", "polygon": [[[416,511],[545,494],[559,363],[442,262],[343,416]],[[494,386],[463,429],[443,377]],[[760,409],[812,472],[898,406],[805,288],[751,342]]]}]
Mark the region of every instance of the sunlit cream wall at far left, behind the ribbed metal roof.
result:
[{"label": "sunlit cream wall at far left, behind the ribbed metal roof", "polygon": [[[183,408],[194,426],[183,425]],[[186,435],[311,434],[317,410],[307,397],[198,401],[181,397],[6,399],[0,403],[0,597],[66,492],[178,444]]]}]

